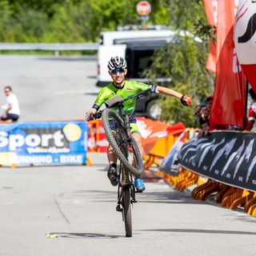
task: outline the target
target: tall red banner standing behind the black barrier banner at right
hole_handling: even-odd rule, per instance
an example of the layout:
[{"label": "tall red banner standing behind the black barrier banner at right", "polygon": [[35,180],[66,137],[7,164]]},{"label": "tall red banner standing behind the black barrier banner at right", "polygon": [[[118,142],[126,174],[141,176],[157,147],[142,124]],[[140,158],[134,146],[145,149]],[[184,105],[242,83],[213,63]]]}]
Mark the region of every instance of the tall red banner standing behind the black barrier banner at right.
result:
[{"label": "tall red banner standing behind the black barrier banner at right", "polygon": [[210,130],[218,126],[244,129],[246,78],[234,48],[235,0],[218,1],[217,69]]}]

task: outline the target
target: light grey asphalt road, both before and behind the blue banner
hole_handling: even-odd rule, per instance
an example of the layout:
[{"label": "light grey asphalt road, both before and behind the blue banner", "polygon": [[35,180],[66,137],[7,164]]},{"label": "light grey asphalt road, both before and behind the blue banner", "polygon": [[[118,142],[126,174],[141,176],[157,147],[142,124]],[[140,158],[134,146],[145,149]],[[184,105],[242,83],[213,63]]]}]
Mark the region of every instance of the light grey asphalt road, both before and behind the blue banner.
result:
[{"label": "light grey asphalt road, both before and behind the blue banner", "polygon": [[[22,122],[83,118],[97,93],[95,58],[0,56],[0,70]],[[0,169],[1,256],[255,255],[256,218],[212,198],[197,202],[150,171],[132,210],[134,235],[125,238],[106,155],[90,158],[93,166]]]}]

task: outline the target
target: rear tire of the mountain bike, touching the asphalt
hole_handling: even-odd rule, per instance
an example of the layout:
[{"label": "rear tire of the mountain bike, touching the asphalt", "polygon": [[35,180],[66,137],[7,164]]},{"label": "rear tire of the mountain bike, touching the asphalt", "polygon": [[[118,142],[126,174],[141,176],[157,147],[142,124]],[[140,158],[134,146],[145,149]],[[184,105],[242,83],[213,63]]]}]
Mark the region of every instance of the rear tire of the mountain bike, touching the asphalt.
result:
[{"label": "rear tire of the mountain bike, touching the asphalt", "polygon": [[131,204],[130,204],[130,188],[126,186],[123,188],[123,217],[126,227],[126,237],[132,236],[132,222],[131,222]]}]

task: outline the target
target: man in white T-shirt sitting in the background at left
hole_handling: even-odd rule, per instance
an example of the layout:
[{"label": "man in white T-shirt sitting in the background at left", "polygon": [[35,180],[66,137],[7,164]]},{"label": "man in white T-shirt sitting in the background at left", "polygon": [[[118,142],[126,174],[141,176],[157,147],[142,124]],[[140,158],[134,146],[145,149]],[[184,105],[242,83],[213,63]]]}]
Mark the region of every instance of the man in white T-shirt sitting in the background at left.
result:
[{"label": "man in white T-shirt sitting in the background at left", "polygon": [[2,121],[16,122],[20,116],[20,109],[18,105],[18,98],[12,92],[10,86],[4,88],[6,94],[6,104],[2,106],[5,110],[1,116]]}]

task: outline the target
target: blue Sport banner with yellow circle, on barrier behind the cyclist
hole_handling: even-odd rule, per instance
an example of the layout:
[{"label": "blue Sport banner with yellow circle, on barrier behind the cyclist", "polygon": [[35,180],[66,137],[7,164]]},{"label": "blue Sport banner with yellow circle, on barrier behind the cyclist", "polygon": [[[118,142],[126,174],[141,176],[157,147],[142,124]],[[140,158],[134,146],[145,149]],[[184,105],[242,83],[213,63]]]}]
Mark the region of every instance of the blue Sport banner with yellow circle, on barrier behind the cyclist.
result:
[{"label": "blue Sport banner with yellow circle, on barrier behind the cyclist", "polygon": [[86,122],[17,122],[0,126],[1,165],[85,164]]}]

